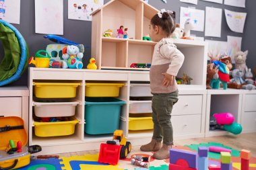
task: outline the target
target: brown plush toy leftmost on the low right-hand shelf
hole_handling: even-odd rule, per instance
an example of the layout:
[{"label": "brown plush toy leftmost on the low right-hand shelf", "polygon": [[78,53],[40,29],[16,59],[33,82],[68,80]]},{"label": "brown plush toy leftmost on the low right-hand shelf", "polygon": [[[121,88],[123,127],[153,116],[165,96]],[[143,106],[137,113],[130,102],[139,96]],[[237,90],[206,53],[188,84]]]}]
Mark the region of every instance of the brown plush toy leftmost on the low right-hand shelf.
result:
[{"label": "brown plush toy leftmost on the low right-hand shelf", "polygon": [[212,79],[218,80],[218,67],[215,67],[214,63],[207,65],[207,76],[206,76],[206,89],[212,89],[211,81]]}]

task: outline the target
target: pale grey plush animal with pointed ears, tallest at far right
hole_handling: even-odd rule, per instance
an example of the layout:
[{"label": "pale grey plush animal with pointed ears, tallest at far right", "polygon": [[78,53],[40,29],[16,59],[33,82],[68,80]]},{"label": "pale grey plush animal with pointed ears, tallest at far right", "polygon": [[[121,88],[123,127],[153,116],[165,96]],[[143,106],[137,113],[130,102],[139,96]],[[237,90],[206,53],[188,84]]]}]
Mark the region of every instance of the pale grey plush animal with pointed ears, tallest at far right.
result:
[{"label": "pale grey plush animal with pointed ears, tallest at far right", "polygon": [[247,54],[248,54],[248,50],[246,50],[245,52],[243,51],[238,51],[236,52],[236,54],[234,55],[234,69],[239,69],[243,72],[243,78],[245,78],[245,69],[247,68],[246,65],[246,59],[247,59]]}]

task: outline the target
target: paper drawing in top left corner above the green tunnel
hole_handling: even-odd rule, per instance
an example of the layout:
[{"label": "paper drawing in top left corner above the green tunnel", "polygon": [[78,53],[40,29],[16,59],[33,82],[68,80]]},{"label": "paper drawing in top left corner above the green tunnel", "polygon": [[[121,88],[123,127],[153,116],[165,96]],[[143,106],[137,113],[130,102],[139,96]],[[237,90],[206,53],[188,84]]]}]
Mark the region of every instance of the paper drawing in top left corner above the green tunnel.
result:
[{"label": "paper drawing in top left corner above the green tunnel", "polygon": [[20,0],[0,0],[0,19],[20,24]]}]

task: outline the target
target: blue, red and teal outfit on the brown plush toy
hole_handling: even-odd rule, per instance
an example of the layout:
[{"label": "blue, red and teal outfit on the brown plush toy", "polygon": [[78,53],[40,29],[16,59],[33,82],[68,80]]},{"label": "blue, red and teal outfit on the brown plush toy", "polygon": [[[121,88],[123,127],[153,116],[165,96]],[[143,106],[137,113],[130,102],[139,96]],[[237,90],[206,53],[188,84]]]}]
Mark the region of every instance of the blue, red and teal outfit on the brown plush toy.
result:
[{"label": "blue, red and teal outfit on the brown plush toy", "polygon": [[223,85],[223,89],[227,89],[228,87],[228,82],[230,81],[229,79],[229,70],[226,67],[226,65],[222,62],[220,62],[219,60],[215,60],[214,62],[215,67],[218,67],[218,79],[212,79],[210,82],[210,87],[212,87],[212,89],[220,89],[220,83],[222,83]]}]

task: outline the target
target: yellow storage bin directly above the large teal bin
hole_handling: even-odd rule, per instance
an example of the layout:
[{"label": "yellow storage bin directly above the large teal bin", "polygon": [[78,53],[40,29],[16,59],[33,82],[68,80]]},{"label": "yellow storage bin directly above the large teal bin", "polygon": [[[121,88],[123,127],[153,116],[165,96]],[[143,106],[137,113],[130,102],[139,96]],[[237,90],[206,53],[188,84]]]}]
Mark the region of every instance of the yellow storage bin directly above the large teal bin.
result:
[{"label": "yellow storage bin directly above the large teal bin", "polygon": [[124,83],[86,83],[86,97],[118,97]]}]

